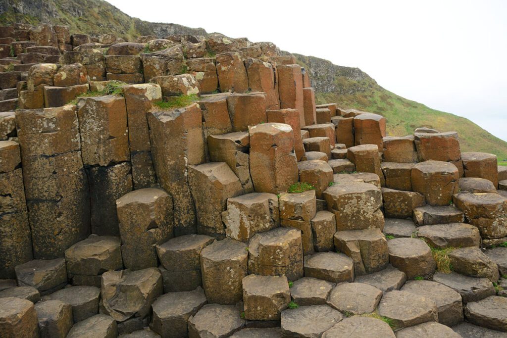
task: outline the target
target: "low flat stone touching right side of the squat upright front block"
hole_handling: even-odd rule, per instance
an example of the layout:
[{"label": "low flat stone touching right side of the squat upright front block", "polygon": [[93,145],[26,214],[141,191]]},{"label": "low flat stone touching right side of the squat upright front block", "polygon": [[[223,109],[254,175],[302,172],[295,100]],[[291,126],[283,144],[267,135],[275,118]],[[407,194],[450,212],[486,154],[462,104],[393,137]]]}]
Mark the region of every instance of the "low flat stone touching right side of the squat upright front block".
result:
[{"label": "low flat stone touching right side of the squat upright front block", "polygon": [[334,283],[303,277],[294,282],[291,287],[291,296],[299,306],[326,304],[328,295],[335,286]]}]

